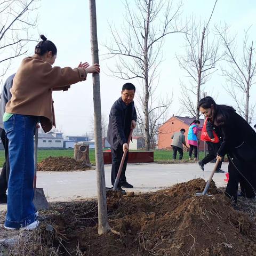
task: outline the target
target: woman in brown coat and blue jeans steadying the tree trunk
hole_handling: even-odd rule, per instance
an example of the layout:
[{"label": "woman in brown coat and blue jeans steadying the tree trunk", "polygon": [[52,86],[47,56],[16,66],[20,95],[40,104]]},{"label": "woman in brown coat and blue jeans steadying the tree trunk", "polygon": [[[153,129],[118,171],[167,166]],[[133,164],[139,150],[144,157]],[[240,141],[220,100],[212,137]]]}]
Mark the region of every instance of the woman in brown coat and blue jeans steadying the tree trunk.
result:
[{"label": "woman in brown coat and blue jeans steadying the tree trunk", "polygon": [[34,130],[40,122],[45,132],[55,125],[53,90],[67,90],[84,81],[88,73],[99,73],[98,64],[87,62],[77,68],[52,67],[57,48],[41,35],[35,54],[22,60],[13,79],[12,98],[3,117],[9,139],[10,177],[8,183],[6,229],[34,229],[38,226],[33,204]]}]

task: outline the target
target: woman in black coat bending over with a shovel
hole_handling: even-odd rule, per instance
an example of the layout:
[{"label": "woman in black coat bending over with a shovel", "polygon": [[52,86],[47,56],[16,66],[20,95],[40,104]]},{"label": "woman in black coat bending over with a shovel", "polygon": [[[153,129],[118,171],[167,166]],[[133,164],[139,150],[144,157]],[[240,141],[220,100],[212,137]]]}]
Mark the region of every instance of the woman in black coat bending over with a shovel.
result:
[{"label": "woman in black coat bending over with a shovel", "polygon": [[214,125],[221,142],[217,158],[227,154],[229,181],[226,195],[237,202],[238,183],[241,195],[253,198],[256,193],[256,133],[233,107],[217,105],[211,97],[198,102],[197,108]]}]

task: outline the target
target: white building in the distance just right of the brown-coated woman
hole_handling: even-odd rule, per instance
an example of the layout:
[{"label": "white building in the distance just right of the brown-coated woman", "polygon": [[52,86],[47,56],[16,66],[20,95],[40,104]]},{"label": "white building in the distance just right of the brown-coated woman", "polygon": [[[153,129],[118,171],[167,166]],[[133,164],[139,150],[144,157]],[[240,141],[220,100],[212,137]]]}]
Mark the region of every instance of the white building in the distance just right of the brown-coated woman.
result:
[{"label": "white building in the distance just right of the brown-coated woman", "polygon": [[38,148],[63,148],[62,133],[38,133]]}]

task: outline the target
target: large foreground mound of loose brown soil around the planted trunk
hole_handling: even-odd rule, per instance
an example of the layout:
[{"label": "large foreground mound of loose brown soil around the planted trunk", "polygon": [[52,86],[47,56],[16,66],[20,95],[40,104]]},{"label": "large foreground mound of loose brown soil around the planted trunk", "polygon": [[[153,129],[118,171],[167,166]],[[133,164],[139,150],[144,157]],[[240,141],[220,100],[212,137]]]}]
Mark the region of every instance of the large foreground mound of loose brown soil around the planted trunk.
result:
[{"label": "large foreground mound of loose brown soil around the planted trunk", "polygon": [[109,225],[121,235],[98,235],[94,201],[55,204],[41,212],[41,244],[37,238],[26,248],[37,255],[256,255],[249,215],[234,210],[213,182],[213,196],[195,196],[204,186],[195,179],[155,193],[108,192]]}]

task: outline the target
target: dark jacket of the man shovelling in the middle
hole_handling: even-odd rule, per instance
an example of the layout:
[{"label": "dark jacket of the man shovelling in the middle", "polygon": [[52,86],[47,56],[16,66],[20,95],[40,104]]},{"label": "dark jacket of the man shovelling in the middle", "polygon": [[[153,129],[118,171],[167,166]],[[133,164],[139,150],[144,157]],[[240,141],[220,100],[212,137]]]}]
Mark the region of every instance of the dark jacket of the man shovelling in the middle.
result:
[{"label": "dark jacket of the man shovelling in the middle", "polygon": [[[137,122],[137,113],[134,107],[134,102],[132,101],[132,112],[131,112],[131,121],[134,120]],[[111,148],[117,149],[118,145],[123,146],[124,143],[127,143],[129,134],[125,134],[125,131],[131,128],[131,123],[125,123],[125,109],[127,106],[120,97],[113,106],[111,107],[109,114],[109,123],[108,123],[108,133],[107,140],[110,143]]]}]

